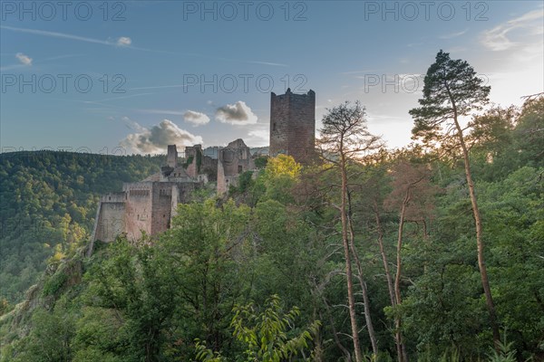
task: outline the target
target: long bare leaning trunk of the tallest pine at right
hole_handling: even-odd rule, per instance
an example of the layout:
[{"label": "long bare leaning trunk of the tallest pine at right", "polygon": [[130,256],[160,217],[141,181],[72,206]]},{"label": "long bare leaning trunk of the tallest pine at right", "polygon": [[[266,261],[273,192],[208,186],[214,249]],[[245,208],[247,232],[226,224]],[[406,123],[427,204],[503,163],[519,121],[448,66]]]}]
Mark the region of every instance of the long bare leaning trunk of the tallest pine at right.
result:
[{"label": "long bare leaning trunk of the tallest pine at right", "polygon": [[493,303],[493,297],[491,295],[490,281],[487,275],[487,268],[485,266],[485,260],[483,257],[483,241],[481,240],[482,228],[481,228],[480,209],[478,208],[476,193],[474,191],[474,182],[472,181],[469,151],[467,149],[467,146],[464,142],[464,138],[462,136],[461,126],[459,125],[459,122],[457,120],[457,109],[455,107],[455,102],[453,102],[453,99],[452,99],[452,105],[453,105],[453,121],[455,122],[455,128],[457,129],[457,133],[459,135],[459,142],[461,143],[462,157],[464,159],[465,176],[467,177],[467,185],[469,186],[469,195],[471,195],[472,213],[474,214],[474,223],[476,224],[476,245],[478,248],[478,266],[480,268],[481,285],[483,287],[483,292],[485,294],[485,302],[487,305],[487,309],[490,313],[490,324],[491,324],[491,329],[493,331],[493,342],[495,344],[495,348],[498,348],[500,343],[499,325],[497,323],[497,313],[495,311],[495,304]]}]

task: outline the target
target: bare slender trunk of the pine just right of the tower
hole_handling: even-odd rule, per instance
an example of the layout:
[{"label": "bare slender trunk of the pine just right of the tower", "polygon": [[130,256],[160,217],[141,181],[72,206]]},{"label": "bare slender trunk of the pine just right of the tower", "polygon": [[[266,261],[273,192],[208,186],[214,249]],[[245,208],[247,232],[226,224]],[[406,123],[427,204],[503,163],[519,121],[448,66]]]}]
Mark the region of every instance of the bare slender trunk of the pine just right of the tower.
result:
[{"label": "bare slender trunk of the pine just right of the tower", "polygon": [[[343,149],[342,146],[340,149]],[[341,163],[340,171],[342,173],[342,203],[340,205],[340,214],[342,221],[342,244],[344,245],[344,257],[345,257],[345,279],[347,281],[347,301],[349,308],[349,318],[352,327],[352,338],[354,340],[355,349],[355,361],[362,362],[361,347],[359,344],[359,331],[357,329],[357,319],[355,314],[355,296],[354,296],[354,283],[352,279],[352,265],[351,256],[349,252],[349,241],[347,237],[347,175],[345,170],[345,154],[341,151]]]}]

